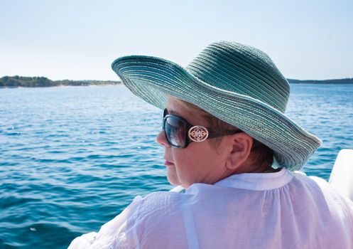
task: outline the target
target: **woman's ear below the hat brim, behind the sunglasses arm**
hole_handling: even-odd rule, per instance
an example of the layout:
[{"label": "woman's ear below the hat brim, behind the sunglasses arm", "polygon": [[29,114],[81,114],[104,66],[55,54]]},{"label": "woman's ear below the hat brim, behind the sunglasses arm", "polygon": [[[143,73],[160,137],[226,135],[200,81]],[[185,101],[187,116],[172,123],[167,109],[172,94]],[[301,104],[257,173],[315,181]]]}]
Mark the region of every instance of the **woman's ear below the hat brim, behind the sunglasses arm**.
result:
[{"label": "woman's ear below the hat brim, behind the sunglasses arm", "polygon": [[233,134],[227,138],[229,138],[227,169],[232,171],[241,169],[243,171],[244,167],[251,166],[249,165],[251,162],[249,155],[254,142],[253,138],[244,132]]}]

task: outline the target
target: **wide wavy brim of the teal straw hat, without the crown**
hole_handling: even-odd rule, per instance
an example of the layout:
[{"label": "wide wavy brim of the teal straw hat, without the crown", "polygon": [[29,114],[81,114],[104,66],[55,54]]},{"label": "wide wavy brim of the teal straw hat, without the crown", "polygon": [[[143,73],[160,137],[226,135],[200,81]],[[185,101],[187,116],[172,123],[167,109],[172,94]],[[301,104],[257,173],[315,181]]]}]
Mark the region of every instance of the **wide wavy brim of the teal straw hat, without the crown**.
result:
[{"label": "wide wavy brim of the teal straw hat, without the crown", "polygon": [[134,95],[162,110],[172,95],[238,127],[271,148],[277,164],[289,170],[300,169],[321,144],[270,105],[215,88],[172,61],[131,55],[116,59],[112,69]]}]

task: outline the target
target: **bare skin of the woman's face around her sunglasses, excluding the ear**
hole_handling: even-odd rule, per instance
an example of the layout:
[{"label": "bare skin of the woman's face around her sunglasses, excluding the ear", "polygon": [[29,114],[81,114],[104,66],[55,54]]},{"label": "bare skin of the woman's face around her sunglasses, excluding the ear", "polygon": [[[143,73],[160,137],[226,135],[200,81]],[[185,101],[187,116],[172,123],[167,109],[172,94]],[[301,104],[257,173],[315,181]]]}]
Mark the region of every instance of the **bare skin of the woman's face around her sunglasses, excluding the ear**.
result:
[{"label": "bare skin of the woman's face around her sunglasses, excluding the ear", "polygon": [[[168,100],[166,108],[168,113],[183,117],[192,125],[210,126],[200,115],[188,112],[173,98]],[[224,147],[224,139],[218,147],[212,145],[214,139],[207,139],[204,142],[191,142],[188,147],[177,149],[170,147],[164,131],[161,130],[156,140],[165,148],[164,159],[170,184],[188,188],[194,183],[214,184],[229,175],[225,166],[228,152]]]}]

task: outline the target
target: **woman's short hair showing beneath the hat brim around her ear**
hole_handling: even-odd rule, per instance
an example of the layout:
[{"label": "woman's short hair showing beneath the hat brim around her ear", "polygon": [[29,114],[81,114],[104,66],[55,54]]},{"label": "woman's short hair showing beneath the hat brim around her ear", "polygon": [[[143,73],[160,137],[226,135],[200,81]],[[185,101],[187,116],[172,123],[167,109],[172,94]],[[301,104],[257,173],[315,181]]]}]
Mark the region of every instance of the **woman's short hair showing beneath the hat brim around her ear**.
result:
[{"label": "woman's short hair showing beneath the hat brim around her ear", "polygon": [[[217,132],[219,132],[220,134],[225,134],[227,131],[239,130],[237,127],[234,127],[234,125],[228,124],[223,120],[219,120],[219,118],[214,117],[212,114],[206,112],[197,105],[193,105],[190,102],[180,100],[173,96],[169,96],[169,98],[173,99],[173,101],[175,102],[178,102],[178,104],[188,110],[188,112],[203,117],[207,124],[209,124],[209,127],[211,129],[217,130]],[[223,137],[216,137],[214,139],[215,142],[212,144],[215,148],[219,146],[219,143],[222,141],[222,138]],[[250,156],[252,157],[252,161],[254,162],[254,164],[257,164],[259,166],[271,166],[273,163],[272,149],[268,148],[265,144],[262,144],[254,138],[253,140],[254,141],[251,147]]]}]

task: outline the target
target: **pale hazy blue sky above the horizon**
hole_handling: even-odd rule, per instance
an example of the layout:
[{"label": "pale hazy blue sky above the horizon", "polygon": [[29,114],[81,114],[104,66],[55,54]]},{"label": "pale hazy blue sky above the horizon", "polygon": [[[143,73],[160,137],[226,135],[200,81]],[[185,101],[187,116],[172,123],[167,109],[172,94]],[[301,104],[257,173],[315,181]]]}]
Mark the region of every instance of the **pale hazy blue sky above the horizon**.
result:
[{"label": "pale hazy blue sky above the horizon", "polygon": [[214,41],[261,49],[286,78],[353,78],[353,1],[0,0],[0,77],[119,80],[116,58],[186,66]]}]

